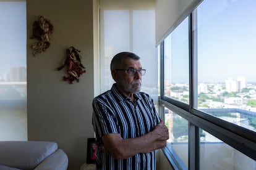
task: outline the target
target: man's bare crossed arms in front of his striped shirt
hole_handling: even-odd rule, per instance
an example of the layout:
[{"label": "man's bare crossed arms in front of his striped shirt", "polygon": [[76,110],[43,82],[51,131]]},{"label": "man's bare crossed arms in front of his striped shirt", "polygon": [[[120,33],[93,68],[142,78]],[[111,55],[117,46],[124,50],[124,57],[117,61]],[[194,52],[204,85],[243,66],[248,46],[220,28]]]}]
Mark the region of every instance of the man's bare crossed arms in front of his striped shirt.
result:
[{"label": "man's bare crossed arms in front of his striped shirt", "polygon": [[168,128],[161,121],[151,132],[144,136],[122,139],[121,134],[105,134],[101,137],[101,150],[111,154],[116,160],[129,158],[137,153],[147,153],[166,147],[169,139]]}]

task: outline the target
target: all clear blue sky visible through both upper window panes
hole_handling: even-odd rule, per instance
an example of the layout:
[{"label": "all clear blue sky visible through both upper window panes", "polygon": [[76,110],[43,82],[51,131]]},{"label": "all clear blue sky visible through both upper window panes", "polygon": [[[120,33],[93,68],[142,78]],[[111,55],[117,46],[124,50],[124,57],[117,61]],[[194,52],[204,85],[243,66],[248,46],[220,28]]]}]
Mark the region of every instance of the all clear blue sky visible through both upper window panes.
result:
[{"label": "all clear blue sky visible through both upper window panes", "polygon": [[[197,9],[198,82],[256,82],[256,1],[205,0]],[[172,83],[189,80],[188,19],[171,33]],[[168,67],[169,68],[169,67]],[[178,71],[177,71],[178,70]]]}]

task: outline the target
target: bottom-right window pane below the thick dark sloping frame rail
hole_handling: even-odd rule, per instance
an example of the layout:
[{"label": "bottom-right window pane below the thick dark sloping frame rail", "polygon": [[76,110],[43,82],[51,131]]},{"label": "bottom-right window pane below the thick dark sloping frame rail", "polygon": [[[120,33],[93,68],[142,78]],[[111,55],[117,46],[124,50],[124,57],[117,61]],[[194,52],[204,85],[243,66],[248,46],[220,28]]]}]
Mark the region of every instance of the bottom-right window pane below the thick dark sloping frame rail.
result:
[{"label": "bottom-right window pane below the thick dark sloping frame rail", "polygon": [[206,131],[200,131],[200,169],[255,169],[256,161],[225,144]]}]

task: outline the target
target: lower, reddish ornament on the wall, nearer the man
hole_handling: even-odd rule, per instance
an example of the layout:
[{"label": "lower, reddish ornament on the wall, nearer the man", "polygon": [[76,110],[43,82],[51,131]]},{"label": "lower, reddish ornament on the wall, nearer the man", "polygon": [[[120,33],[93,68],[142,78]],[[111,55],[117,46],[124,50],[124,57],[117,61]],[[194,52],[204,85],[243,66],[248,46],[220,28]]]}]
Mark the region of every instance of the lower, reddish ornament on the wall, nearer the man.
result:
[{"label": "lower, reddish ornament on the wall, nearer the man", "polygon": [[85,73],[85,67],[81,63],[81,55],[78,49],[75,47],[70,46],[66,50],[66,59],[63,60],[62,65],[57,68],[57,70],[61,70],[65,66],[67,66],[67,73],[69,76],[64,76],[64,81],[68,81],[69,84],[72,84],[74,80],[79,82],[79,77],[83,73]]}]

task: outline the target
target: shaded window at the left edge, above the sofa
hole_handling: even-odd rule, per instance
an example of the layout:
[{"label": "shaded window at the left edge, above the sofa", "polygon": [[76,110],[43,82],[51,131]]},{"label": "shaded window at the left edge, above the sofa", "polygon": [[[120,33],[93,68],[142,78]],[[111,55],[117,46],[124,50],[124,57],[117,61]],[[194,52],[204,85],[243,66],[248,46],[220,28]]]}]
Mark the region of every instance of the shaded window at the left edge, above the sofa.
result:
[{"label": "shaded window at the left edge, above the sofa", "polygon": [[27,140],[25,1],[0,1],[0,140]]}]

